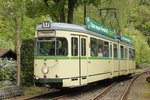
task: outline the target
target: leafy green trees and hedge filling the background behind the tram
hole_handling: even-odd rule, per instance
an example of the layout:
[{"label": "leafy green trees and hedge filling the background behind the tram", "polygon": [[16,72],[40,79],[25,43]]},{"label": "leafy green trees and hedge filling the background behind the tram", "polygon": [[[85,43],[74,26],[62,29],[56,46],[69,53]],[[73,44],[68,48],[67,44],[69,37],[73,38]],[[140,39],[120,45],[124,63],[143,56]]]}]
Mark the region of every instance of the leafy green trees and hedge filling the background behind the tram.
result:
[{"label": "leafy green trees and hedge filling the background behind the tram", "polygon": [[[33,84],[33,41],[36,26],[45,19],[83,25],[85,0],[0,0],[0,48],[16,51],[15,18],[21,18],[22,83]],[[150,63],[150,0],[86,0],[86,15],[121,31],[135,42],[136,62]],[[69,5],[72,6],[69,6]],[[99,9],[115,8],[114,11]],[[22,9],[22,10],[16,10]],[[73,16],[69,14],[72,11]],[[17,11],[17,12],[16,12]],[[68,18],[72,18],[71,20]],[[70,21],[68,21],[70,20]],[[28,83],[29,82],[29,83]]]}]

